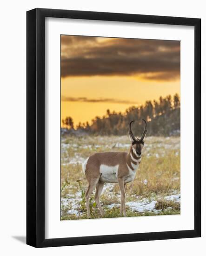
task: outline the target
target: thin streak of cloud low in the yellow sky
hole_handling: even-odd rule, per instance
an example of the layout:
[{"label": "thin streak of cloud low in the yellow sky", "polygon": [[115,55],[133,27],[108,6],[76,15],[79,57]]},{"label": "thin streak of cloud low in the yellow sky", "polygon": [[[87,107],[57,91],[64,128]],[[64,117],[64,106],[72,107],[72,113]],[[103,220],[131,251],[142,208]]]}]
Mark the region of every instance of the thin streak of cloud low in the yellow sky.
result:
[{"label": "thin streak of cloud low in the yellow sky", "polygon": [[119,104],[137,104],[138,102],[134,101],[126,101],[126,100],[118,100],[118,99],[88,99],[86,97],[66,97],[61,96],[61,101],[81,101],[81,102],[107,102],[107,103],[119,103]]}]

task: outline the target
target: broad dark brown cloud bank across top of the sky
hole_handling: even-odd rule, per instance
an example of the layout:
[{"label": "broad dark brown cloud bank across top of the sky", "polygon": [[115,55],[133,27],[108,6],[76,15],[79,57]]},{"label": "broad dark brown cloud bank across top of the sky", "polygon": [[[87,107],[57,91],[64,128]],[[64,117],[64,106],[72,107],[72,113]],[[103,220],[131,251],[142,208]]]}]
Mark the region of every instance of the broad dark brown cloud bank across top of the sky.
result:
[{"label": "broad dark brown cloud bank across top of the sky", "polygon": [[180,73],[180,42],[64,36],[61,76],[140,75],[174,80]]}]

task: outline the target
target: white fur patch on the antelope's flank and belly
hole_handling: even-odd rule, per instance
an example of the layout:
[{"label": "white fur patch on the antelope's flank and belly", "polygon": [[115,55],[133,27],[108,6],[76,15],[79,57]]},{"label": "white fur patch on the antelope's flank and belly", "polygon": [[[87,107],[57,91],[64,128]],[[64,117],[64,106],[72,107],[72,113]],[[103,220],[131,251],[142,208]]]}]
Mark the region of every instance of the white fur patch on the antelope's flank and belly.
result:
[{"label": "white fur patch on the antelope's flank and belly", "polygon": [[100,165],[100,182],[108,182],[108,183],[117,183],[117,174],[118,174],[119,165],[108,166],[105,164]]}]

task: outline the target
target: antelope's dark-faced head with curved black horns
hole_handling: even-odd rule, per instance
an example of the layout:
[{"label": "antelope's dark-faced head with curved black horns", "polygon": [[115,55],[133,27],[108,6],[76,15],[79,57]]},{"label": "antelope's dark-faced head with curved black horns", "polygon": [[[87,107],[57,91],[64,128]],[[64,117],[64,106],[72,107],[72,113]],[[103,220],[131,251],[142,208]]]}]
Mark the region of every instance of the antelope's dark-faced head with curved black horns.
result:
[{"label": "antelope's dark-faced head with curved black horns", "polygon": [[142,121],[145,122],[145,128],[144,128],[144,131],[142,133],[141,138],[137,138],[137,137],[135,138],[134,135],[133,135],[131,125],[134,122],[134,120],[131,121],[130,124],[129,124],[129,138],[130,138],[130,141],[132,143],[133,153],[137,157],[141,157],[141,155],[142,155],[142,149],[144,147],[144,143],[145,143],[144,140],[145,140],[145,136],[146,136],[146,132],[147,132],[147,130],[146,130],[146,121],[144,119],[142,119]]}]

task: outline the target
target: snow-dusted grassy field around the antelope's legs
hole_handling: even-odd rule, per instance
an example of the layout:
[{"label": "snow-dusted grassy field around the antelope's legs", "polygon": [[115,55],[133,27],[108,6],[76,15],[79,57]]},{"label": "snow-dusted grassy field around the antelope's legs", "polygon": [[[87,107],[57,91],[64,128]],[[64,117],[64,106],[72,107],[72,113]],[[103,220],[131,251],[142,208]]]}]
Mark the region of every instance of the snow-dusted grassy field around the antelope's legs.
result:
[{"label": "snow-dusted grassy field around the antelope's legs", "polygon": [[[81,164],[95,152],[128,151],[127,136],[61,136],[61,220],[86,219],[87,181]],[[133,182],[126,185],[126,216],[180,214],[180,138],[147,137]],[[90,200],[92,218],[101,218]],[[104,218],[120,217],[118,184],[105,183]]]}]

